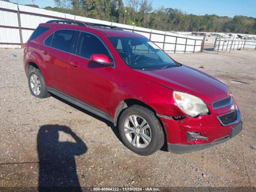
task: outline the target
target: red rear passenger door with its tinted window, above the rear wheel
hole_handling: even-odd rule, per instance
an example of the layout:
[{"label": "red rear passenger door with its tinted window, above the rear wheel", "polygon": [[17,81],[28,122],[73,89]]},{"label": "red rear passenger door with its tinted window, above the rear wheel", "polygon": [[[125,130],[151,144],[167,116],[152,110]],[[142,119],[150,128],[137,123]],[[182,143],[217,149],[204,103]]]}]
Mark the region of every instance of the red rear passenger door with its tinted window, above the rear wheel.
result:
[{"label": "red rear passenger door with its tinted window, above the rear wheel", "polygon": [[70,49],[77,33],[75,30],[57,30],[46,38],[43,46],[40,46],[47,68],[47,84],[66,94]]}]

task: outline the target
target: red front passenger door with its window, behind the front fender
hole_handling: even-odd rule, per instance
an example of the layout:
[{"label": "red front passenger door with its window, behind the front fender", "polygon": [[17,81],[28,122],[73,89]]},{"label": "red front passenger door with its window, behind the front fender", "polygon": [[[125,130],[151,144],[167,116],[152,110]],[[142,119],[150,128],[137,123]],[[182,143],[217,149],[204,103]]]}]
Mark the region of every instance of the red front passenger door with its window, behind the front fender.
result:
[{"label": "red front passenger door with its window, behind the front fender", "polygon": [[80,32],[76,51],[70,56],[69,95],[109,114],[115,69],[90,62],[92,54],[105,54],[112,59],[98,36]]}]

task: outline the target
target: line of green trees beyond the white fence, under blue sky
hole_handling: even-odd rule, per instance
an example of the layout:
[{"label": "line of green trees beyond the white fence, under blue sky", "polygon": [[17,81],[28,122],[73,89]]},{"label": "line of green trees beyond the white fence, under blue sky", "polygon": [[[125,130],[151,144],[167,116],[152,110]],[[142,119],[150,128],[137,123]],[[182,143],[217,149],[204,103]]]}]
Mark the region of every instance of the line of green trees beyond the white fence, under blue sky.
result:
[{"label": "line of green trees beyond the white fence, under blue sky", "polygon": [[[153,9],[150,0],[54,0],[44,9],[162,31],[256,34],[256,18],[186,14],[182,10]],[[34,6],[34,5],[30,5]]]}]

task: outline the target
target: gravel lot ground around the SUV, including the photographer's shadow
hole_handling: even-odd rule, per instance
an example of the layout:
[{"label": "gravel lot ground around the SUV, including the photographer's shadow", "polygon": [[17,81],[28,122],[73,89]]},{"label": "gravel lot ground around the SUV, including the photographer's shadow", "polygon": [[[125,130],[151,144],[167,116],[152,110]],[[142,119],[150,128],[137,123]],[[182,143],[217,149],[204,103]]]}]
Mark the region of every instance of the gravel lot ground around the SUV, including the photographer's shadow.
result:
[{"label": "gravel lot ground around the SUV, including the photographer's shadow", "polygon": [[[195,68],[204,65],[200,70],[230,86],[243,120],[238,136],[189,154],[138,156],[110,122],[57,97],[33,97],[23,51],[0,49],[0,186],[37,187],[38,180],[82,187],[256,186],[256,51],[171,56]],[[63,177],[42,174],[51,169]]]}]

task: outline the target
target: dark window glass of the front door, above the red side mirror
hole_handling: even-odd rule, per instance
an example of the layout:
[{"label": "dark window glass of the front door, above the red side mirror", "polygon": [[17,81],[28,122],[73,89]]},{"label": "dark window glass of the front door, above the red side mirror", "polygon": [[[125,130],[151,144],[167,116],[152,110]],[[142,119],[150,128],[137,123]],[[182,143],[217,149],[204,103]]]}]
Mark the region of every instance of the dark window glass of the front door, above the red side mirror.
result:
[{"label": "dark window glass of the front door, above the red side mirror", "polygon": [[110,57],[108,50],[96,36],[84,32],[80,34],[76,54],[88,59],[92,54],[105,54]]}]

